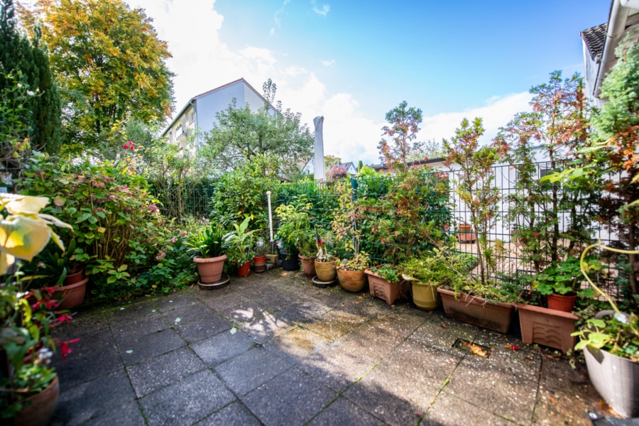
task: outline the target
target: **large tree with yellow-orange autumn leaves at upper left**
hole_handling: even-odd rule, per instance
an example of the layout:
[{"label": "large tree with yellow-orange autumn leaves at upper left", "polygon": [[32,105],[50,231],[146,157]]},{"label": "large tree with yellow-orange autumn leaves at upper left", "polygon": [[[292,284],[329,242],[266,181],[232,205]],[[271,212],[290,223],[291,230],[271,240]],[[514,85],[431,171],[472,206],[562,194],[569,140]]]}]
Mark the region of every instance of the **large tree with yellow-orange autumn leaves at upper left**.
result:
[{"label": "large tree with yellow-orange autumn leaves at upper left", "polygon": [[65,105],[66,151],[97,148],[117,121],[170,114],[170,53],[143,9],[122,0],[38,0],[23,10],[26,23],[36,19]]}]

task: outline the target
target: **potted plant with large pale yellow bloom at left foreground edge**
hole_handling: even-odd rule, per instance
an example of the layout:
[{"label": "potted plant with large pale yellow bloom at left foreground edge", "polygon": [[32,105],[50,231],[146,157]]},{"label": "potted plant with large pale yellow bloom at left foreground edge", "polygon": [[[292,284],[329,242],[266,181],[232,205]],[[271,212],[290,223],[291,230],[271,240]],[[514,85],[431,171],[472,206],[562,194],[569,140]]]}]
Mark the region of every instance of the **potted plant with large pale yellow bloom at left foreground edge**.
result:
[{"label": "potted plant with large pale yellow bloom at left foreground edge", "polygon": [[[52,288],[43,292],[25,291],[16,279],[16,259],[32,261],[50,239],[64,249],[60,237],[50,225],[71,228],[40,210],[48,204],[46,197],[13,194],[0,195],[0,275],[6,282],[0,286],[0,414],[14,418],[18,424],[46,425],[58,403],[58,376],[48,367],[53,339],[50,327],[70,316],[55,311],[55,300],[49,299]],[[28,297],[34,297],[33,305]],[[53,310],[50,309],[53,307]],[[65,354],[63,352],[63,354]]]}]

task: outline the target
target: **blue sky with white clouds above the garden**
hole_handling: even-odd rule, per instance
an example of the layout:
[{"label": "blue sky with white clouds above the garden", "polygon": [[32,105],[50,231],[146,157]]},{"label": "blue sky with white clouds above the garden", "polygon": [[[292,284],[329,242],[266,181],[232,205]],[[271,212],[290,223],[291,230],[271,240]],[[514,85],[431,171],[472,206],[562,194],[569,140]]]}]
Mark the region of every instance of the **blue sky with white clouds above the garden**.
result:
[{"label": "blue sky with white clouds above the garden", "polygon": [[579,32],[605,23],[609,0],[128,0],[173,55],[176,112],[244,77],[259,93],[324,116],[324,153],[380,163],[386,113],[422,110],[417,140],[484,119],[483,143],[530,109],[530,87],[584,73]]}]

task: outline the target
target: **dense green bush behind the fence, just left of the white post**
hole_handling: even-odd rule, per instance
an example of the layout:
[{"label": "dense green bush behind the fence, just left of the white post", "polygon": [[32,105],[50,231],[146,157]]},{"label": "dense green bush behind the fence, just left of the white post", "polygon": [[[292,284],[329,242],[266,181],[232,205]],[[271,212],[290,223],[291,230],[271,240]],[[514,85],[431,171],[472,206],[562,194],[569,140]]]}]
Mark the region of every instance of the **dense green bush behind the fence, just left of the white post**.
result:
[{"label": "dense green bush behind the fence, just left of the white post", "polygon": [[258,155],[251,163],[222,175],[211,198],[211,217],[222,222],[241,222],[251,218],[250,229],[266,237],[268,201],[266,192],[277,198],[279,178],[277,161],[270,155]]}]

